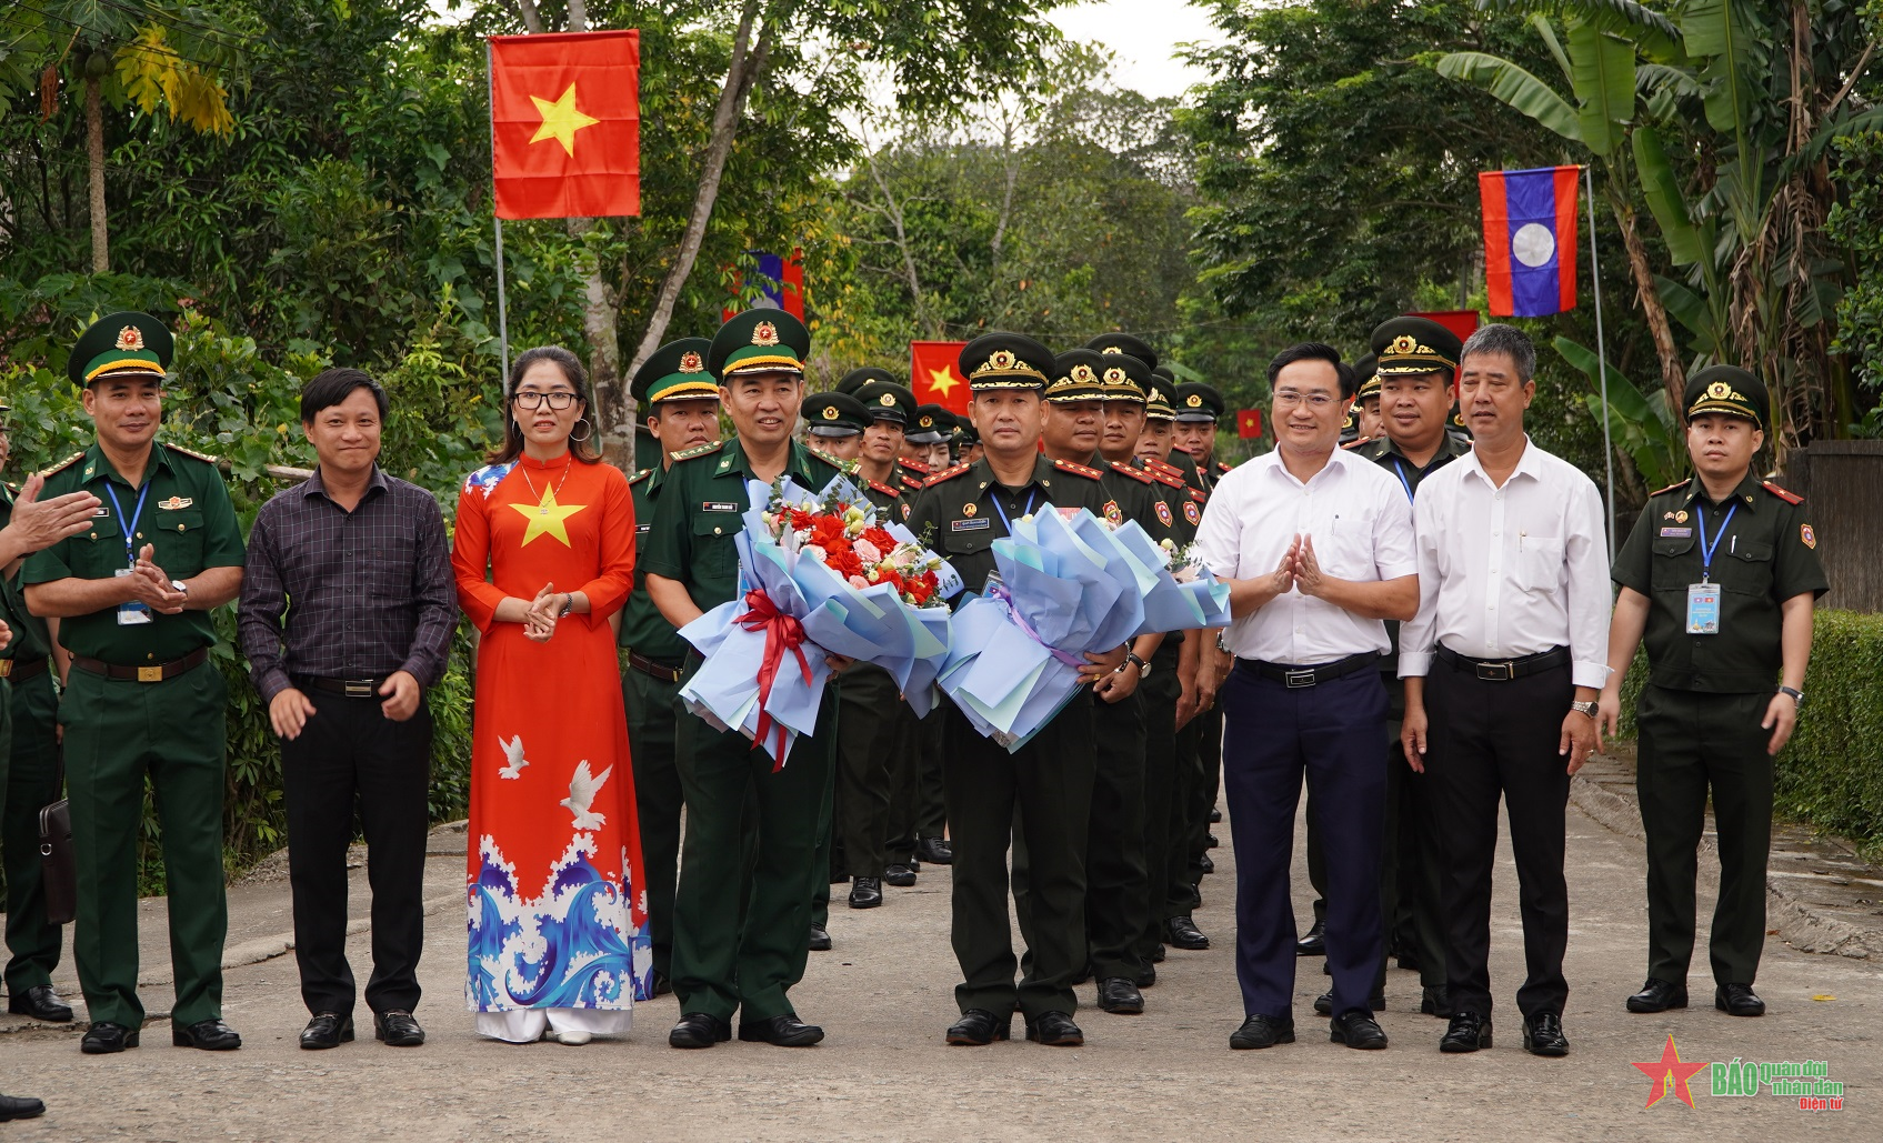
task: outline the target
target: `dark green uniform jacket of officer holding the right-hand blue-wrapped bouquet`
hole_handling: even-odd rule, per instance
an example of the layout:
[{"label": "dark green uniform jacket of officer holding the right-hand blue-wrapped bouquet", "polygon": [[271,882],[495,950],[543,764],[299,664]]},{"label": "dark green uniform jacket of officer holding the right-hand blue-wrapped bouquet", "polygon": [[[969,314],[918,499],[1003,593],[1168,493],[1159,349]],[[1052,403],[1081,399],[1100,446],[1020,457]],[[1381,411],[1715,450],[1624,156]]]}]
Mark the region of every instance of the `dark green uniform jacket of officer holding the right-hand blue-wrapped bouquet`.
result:
[{"label": "dark green uniform jacket of officer holding the right-hand blue-wrapped bouquet", "polygon": [[1098,469],[1041,456],[1034,461],[1026,486],[1007,490],[994,480],[987,458],[981,458],[928,478],[909,510],[909,531],[925,537],[955,567],[968,591],[981,591],[994,571],[994,540],[1009,535],[1007,522],[1047,505],[1090,508],[1105,520],[1120,518]]}]

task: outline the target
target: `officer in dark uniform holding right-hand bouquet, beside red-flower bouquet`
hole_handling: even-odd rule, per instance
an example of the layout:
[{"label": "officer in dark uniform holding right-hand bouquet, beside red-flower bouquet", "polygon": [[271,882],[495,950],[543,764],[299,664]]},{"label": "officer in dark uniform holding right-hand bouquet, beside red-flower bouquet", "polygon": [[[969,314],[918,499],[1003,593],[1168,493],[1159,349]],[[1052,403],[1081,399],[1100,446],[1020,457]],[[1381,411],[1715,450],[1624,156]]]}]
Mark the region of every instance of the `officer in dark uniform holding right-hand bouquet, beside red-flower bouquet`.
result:
[{"label": "officer in dark uniform holding right-hand bouquet, beside red-flower bouquet", "polygon": [[[1032,512],[1117,512],[1096,471],[1036,450],[1041,390],[1053,354],[1030,337],[985,333],[960,350],[970,409],[987,456],[938,473],[915,499],[909,527],[934,537],[970,591],[994,571],[992,542]],[[1126,648],[1086,655],[1098,682],[1124,665]],[[1019,1007],[1026,1036],[1079,1045],[1073,977],[1085,966],[1085,840],[1092,804],[1092,699],[1081,689],[1019,751],[983,738],[947,704],[947,815],[955,840],[953,945],[962,983],[960,1021],[947,1041],[1006,1039]],[[1007,919],[1007,847],[1015,825],[1026,844],[1032,964],[1015,985]]]}]

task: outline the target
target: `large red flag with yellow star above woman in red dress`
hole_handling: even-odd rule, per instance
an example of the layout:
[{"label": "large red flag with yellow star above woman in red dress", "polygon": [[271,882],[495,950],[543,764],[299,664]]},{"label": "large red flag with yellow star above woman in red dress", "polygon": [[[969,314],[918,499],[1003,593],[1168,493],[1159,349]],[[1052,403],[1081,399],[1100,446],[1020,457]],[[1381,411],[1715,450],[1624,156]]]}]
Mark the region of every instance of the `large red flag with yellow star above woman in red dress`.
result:
[{"label": "large red flag with yellow star above woman in red dress", "polygon": [[499,218],[640,213],[640,32],[490,38]]}]

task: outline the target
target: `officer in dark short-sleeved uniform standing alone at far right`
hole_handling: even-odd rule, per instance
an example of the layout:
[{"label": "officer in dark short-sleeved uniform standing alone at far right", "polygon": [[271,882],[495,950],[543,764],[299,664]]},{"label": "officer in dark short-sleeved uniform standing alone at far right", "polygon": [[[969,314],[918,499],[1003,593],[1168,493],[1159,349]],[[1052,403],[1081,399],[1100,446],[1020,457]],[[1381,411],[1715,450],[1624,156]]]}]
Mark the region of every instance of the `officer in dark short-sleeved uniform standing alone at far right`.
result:
[{"label": "officer in dark short-sleeved uniform standing alone at far right", "polygon": [[1627,1007],[1687,1007],[1695,849],[1712,791],[1714,1007],[1757,1017],[1764,1015],[1753,977],[1766,938],[1772,759],[1804,704],[1811,604],[1828,584],[1804,499],[1751,473],[1772,407],[1764,384],[1714,365],[1687,378],[1683,405],[1695,476],[1653,493],[1616,555],[1621,595],[1601,697],[1614,734],[1621,676],[1646,636],[1634,787],[1648,834],[1648,983]]}]

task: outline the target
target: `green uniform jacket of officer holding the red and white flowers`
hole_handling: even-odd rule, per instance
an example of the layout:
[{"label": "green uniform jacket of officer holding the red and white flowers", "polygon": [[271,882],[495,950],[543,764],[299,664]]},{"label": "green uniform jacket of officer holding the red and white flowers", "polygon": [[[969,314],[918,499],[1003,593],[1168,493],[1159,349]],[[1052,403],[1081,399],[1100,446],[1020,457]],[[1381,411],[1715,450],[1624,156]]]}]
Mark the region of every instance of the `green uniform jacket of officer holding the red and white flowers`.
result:
[{"label": "green uniform jacket of officer holding the red and white flowers", "polygon": [[[840,471],[836,459],[791,443],[785,475],[810,491],[823,491]],[[732,539],[751,510],[749,480],[755,480],[751,461],[736,439],[676,452],[653,505],[653,527],[636,544],[636,586],[644,574],[676,580],[702,612],[732,599],[738,591]]]}]

